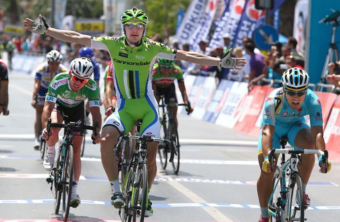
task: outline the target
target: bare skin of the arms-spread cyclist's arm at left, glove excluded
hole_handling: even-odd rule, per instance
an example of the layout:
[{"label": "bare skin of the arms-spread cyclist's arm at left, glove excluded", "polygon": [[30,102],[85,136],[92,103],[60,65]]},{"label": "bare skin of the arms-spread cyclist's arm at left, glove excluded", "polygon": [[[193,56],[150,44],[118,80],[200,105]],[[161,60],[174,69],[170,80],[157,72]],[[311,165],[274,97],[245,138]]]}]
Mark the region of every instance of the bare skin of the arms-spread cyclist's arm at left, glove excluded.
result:
[{"label": "bare skin of the arms-spread cyclist's arm at left, glove excluded", "polygon": [[[41,18],[42,15],[39,15]],[[31,31],[33,20],[26,18],[24,21],[24,26],[27,30]],[[76,31],[60,30],[56,28],[49,27],[46,32],[47,35],[64,42],[81,44],[84,46],[91,47],[91,36],[86,34],[81,34]]]}]

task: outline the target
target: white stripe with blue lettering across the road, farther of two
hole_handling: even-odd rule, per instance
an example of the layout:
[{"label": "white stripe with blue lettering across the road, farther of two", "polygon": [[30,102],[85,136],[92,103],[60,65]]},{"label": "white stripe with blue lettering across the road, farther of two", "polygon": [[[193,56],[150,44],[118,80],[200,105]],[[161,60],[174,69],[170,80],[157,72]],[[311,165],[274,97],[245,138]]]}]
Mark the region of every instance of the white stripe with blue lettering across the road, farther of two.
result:
[{"label": "white stripe with blue lettering across the road, farther of two", "polygon": [[[37,179],[37,178],[47,178],[48,173],[0,173],[0,178],[24,178],[24,179]],[[97,176],[84,176],[81,175],[80,180],[95,180],[95,181],[108,181],[107,177],[97,177]],[[256,181],[241,181],[241,180],[222,180],[222,179],[201,179],[201,178],[182,178],[182,177],[156,177],[155,181],[158,182],[197,182],[197,183],[215,183],[215,184],[230,184],[230,185],[256,185]],[[310,181],[308,186],[330,186],[338,187],[339,185],[334,182],[320,182],[320,181]]]}]

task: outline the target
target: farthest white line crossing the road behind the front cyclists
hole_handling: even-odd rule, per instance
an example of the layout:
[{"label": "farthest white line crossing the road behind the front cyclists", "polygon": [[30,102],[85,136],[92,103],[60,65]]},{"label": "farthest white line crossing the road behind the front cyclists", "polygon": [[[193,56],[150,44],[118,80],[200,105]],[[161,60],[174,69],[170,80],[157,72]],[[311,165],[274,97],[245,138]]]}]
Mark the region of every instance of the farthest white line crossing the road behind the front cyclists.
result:
[{"label": "farthest white line crossing the road behind the front cyclists", "polygon": [[[60,134],[62,135],[62,134]],[[0,134],[0,139],[33,139],[34,134]],[[90,136],[85,138],[86,141],[92,141]],[[257,141],[241,140],[220,140],[220,139],[188,139],[180,138],[181,144],[199,144],[199,145],[236,145],[236,146],[257,146]]]}]

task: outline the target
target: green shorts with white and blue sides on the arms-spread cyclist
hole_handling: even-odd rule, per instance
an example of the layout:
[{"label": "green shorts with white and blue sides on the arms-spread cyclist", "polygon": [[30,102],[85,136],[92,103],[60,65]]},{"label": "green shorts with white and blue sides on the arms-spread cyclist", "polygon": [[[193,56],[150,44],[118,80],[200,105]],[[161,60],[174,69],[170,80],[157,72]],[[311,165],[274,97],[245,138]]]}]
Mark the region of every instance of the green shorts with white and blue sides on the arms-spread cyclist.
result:
[{"label": "green shorts with white and blue sides on the arms-spread cyclist", "polygon": [[115,127],[128,133],[138,120],[142,120],[140,135],[160,137],[158,104],[154,96],[137,99],[118,99],[116,111],[105,121],[104,127]]}]

